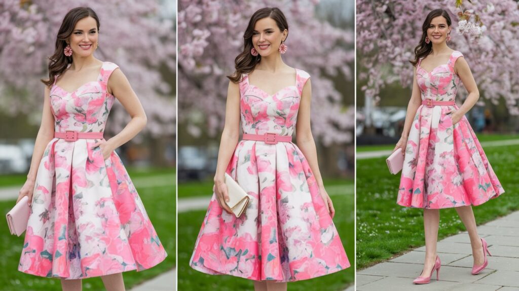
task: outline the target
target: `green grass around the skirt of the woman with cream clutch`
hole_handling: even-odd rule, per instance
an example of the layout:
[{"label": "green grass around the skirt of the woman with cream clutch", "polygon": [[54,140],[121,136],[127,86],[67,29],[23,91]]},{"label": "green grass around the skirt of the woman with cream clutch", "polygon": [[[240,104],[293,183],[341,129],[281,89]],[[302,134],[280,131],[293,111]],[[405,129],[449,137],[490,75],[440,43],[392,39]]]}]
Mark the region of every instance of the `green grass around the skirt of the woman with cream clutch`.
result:
[{"label": "green grass around the skirt of the woman with cream clutch", "polygon": [[[198,187],[192,183],[183,184],[179,183],[179,197],[187,197],[190,196],[189,194],[202,195],[203,192],[203,195],[208,196],[209,199],[212,194],[211,182],[198,183]],[[353,191],[353,182],[325,181],[324,184],[330,186],[327,191],[336,210],[333,220],[352,267],[312,280],[289,283],[289,290],[343,290],[354,281],[354,197],[342,194]],[[192,192],[183,193],[186,189]],[[211,193],[208,194],[208,191]],[[189,267],[189,259],[205,215],[205,210],[179,213],[179,266],[177,266],[179,290],[252,290],[254,287],[250,280],[228,275],[207,275]]]}]

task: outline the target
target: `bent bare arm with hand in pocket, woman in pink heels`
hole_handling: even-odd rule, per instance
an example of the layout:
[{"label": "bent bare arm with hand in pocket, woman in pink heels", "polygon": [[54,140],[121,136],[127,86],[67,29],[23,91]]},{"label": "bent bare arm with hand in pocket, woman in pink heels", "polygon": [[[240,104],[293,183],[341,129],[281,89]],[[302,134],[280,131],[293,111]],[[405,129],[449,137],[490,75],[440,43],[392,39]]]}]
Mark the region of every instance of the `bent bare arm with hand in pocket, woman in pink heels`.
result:
[{"label": "bent bare arm with hand in pocket, woman in pink heels", "polygon": [[463,115],[465,115],[480,99],[480,91],[477,90],[476,81],[472,76],[472,72],[470,71],[469,64],[465,60],[465,58],[460,57],[456,60],[454,64],[454,71],[458,74],[459,78],[463,82],[463,86],[469,92],[467,99],[463,102],[463,105],[453,113],[452,119],[453,124],[458,123]]}]

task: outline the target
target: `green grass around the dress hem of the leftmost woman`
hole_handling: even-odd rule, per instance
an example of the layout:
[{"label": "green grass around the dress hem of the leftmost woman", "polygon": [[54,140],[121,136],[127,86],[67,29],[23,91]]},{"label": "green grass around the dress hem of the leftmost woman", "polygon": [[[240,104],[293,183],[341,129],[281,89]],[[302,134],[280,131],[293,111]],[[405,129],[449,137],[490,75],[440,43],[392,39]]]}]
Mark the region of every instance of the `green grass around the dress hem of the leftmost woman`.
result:
[{"label": "green grass around the dress hem of the leftmost woman", "polygon": [[[132,174],[133,173],[133,174]],[[132,178],[135,177],[154,177],[156,175],[171,174],[174,181],[174,170],[153,170],[149,172],[135,173],[130,172]],[[23,182],[22,182],[23,183]],[[141,272],[129,271],[123,273],[126,288],[129,289],[136,284],[152,279],[163,272],[171,270],[175,265],[175,188],[172,186],[158,186],[139,188],[139,196],[141,197],[146,212],[152,220],[153,226],[157,231],[160,241],[166,248],[168,257],[159,265]],[[7,213],[15,201],[1,201],[0,210]],[[2,257],[0,261],[0,283],[3,291],[19,291],[19,290],[61,290],[60,280],[50,278],[40,278],[18,271],[18,261],[23,245],[23,236],[20,238],[10,235],[7,223],[0,223],[0,247],[2,248]],[[83,280],[84,290],[104,290],[103,283],[100,278],[90,278]]]}]

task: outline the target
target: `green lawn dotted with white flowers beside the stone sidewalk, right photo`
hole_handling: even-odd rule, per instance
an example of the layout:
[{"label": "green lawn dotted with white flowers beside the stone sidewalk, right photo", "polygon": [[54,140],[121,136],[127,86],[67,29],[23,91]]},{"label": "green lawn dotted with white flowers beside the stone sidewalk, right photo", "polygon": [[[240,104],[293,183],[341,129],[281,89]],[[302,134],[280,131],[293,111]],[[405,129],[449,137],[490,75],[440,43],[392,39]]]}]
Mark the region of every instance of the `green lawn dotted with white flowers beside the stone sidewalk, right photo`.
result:
[{"label": "green lawn dotted with white flowers beside the stone sidewalk, right photo", "polygon": [[[485,153],[506,192],[473,207],[478,225],[519,209],[519,147],[487,147]],[[423,211],[397,205],[399,183],[400,173],[389,174],[385,158],[357,161],[359,269],[425,244]],[[456,210],[441,210],[439,240],[459,231],[465,227]]]}]

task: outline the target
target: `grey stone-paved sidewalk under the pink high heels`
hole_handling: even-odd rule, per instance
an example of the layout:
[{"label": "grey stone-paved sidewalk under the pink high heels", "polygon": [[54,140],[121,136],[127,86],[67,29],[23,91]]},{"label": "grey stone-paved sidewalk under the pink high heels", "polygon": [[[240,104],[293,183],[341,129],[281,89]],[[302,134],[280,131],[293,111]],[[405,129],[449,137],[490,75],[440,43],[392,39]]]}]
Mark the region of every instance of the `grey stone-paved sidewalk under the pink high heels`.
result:
[{"label": "grey stone-paved sidewalk under the pink high heels", "polygon": [[438,242],[440,280],[414,285],[421,273],[425,247],[357,272],[357,291],[380,290],[519,290],[519,211],[477,227],[493,256],[488,267],[472,275],[472,251],[467,232]]}]

